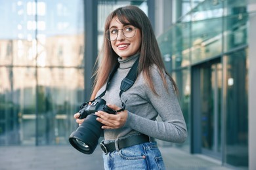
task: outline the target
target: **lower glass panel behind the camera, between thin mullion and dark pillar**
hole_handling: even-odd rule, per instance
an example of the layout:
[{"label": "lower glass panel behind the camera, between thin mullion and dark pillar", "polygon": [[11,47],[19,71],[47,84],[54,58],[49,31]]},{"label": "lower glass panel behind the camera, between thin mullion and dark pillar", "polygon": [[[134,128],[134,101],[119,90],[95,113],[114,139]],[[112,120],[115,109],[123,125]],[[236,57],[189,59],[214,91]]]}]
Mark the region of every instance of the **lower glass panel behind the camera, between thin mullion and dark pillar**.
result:
[{"label": "lower glass panel behind the camera, between thin mullion and dark pillar", "polygon": [[38,70],[39,144],[67,143],[77,125],[73,114],[83,103],[83,87],[83,69]]}]

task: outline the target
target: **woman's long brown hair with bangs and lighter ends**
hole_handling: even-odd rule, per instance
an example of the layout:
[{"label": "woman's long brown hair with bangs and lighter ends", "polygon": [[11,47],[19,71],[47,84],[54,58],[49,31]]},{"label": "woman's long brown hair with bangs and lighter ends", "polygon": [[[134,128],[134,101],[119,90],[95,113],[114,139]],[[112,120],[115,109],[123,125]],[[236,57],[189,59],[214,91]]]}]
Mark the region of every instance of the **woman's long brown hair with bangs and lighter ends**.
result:
[{"label": "woman's long brown hair with bangs and lighter ends", "polygon": [[[177,92],[177,85],[175,84],[173,78],[167,73],[165,67],[163,65],[163,60],[161,59],[160,49],[158,47],[158,42],[156,41],[156,37],[154,35],[154,31],[152,29],[152,25],[150,24],[150,20],[148,16],[139,9],[139,7],[135,6],[127,6],[121,7],[114,10],[107,18],[105,23],[104,30],[109,29],[110,22],[112,19],[117,16],[119,21],[124,25],[133,25],[140,29],[141,31],[141,47],[140,47],[140,59],[139,59],[139,71],[138,73],[143,74],[146,82],[150,86],[152,92],[157,92],[152,83],[152,78],[150,76],[150,67],[152,65],[156,65],[158,70],[160,71],[161,78],[163,80],[163,84],[167,89],[167,82],[165,80],[164,73],[166,73],[170,80],[173,82],[173,87]],[[106,83],[108,79],[108,75],[110,71],[117,63],[117,54],[114,52],[111,46],[111,42],[104,37],[104,42],[102,46],[102,50],[97,58],[96,63],[100,63],[95,72],[95,82],[93,86],[93,93],[91,95],[91,99],[96,97],[96,93],[102,86]],[[101,59],[101,61],[100,61]]]}]

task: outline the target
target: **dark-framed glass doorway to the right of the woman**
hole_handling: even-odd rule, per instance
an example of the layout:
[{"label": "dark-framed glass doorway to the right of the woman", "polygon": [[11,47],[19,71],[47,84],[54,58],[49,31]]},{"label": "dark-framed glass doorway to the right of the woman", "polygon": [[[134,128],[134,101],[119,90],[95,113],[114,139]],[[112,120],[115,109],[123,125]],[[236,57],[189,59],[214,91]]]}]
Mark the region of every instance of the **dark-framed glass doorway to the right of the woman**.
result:
[{"label": "dark-framed glass doorway to the right of the woman", "polygon": [[221,58],[192,67],[192,152],[221,159]]}]

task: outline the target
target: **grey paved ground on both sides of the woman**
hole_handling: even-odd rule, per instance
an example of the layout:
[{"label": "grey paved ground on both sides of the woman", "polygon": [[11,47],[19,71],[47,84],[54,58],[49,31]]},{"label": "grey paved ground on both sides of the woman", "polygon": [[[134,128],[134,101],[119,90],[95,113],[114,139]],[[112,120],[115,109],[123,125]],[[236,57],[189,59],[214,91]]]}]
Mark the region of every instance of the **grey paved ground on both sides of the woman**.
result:
[{"label": "grey paved ground on both sides of the woman", "polygon": [[[191,155],[177,148],[160,147],[166,169],[220,169],[217,161]],[[97,146],[91,155],[75,150],[71,145],[65,146],[0,146],[1,170],[100,170],[103,169],[102,151]]]}]

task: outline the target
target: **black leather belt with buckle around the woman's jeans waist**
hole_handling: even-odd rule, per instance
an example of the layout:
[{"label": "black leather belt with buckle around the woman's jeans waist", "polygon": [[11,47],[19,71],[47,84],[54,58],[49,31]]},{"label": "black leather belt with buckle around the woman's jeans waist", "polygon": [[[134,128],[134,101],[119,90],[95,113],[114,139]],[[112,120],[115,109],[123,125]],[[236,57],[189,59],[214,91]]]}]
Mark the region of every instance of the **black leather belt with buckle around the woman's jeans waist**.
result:
[{"label": "black leather belt with buckle around the woman's jeans waist", "polygon": [[131,135],[123,139],[116,139],[111,143],[104,144],[103,141],[100,143],[100,148],[104,154],[108,152],[113,152],[114,150],[120,150],[121,148],[126,148],[140,143],[150,142],[150,137],[148,135],[139,134]]}]

